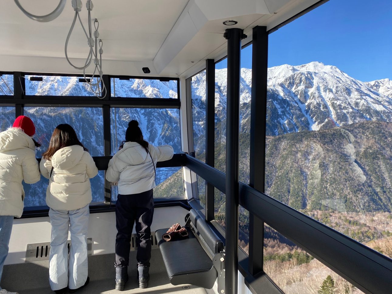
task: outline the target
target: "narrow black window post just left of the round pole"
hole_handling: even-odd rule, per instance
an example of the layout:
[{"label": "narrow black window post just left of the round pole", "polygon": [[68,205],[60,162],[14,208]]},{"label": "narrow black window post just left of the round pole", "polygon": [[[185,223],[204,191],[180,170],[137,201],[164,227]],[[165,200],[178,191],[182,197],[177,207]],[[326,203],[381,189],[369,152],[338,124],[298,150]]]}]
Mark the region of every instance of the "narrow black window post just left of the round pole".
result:
[{"label": "narrow black window post just left of the round pole", "polygon": [[[214,167],[215,154],[215,61],[205,61],[205,163]],[[205,219],[214,220],[214,186],[206,182]]]}]

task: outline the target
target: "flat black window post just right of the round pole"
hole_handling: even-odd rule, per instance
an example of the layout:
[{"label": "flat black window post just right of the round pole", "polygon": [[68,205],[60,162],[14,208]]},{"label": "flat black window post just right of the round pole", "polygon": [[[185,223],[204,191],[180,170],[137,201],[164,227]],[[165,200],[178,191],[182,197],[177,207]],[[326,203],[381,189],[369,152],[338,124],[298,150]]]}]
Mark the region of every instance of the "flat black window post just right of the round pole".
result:
[{"label": "flat black window post just right of the round pole", "polygon": [[[265,124],[267,108],[267,27],[253,28],[252,41],[252,104],[250,112],[250,179],[249,185],[264,192]],[[249,214],[249,272],[252,276],[263,270],[263,221]]]}]

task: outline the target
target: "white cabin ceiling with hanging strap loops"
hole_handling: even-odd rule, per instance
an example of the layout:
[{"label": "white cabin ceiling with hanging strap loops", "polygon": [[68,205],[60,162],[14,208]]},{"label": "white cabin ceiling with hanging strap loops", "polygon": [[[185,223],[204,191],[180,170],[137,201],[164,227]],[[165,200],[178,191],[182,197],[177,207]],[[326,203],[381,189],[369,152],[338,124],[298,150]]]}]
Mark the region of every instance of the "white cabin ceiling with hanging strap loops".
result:
[{"label": "white cabin ceiling with hanging strap loops", "polygon": [[[87,9],[80,12],[87,27]],[[103,40],[103,72],[143,74],[148,66],[158,76],[186,76],[203,67],[206,58],[225,54],[223,20],[251,33],[252,27],[271,28],[317,0],[93,0],[92,18],[98,18]],[[58,0],[20,0],[36,15],[53,11]],[[276,12],[276,14],[274,14]],[[71,0],[51,22],[36,22],[11,1],[0,10],[0,71],[76,73],[64,58],[65,38],[73,20]],[[248,38],[249,39],[249,38]],[[248,42],[245,40],[244,42]],[[84,64],[88,46],[76,22],[68,56]],[[194,61],[194,63],[191,63]]]}]

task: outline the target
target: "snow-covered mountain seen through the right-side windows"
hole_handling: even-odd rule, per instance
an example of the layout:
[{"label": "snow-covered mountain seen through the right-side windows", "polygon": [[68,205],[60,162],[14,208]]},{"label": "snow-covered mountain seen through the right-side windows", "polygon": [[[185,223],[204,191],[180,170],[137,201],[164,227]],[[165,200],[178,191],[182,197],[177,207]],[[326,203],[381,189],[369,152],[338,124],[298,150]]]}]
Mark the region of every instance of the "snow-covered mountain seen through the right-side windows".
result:
[{"label": "snow-covered mountain seen through the right-side windows", "polygon": [[[227,69],[216,70],[216,122],[226,118]],[[249,128],[252,70],[241,69],[241,130]],[[392,81],[361,82],[332,65],[321,62],[268,69],[267,135],[329,129],[366,120],[392,122]],[[192,79],[194,120],[201,122],[205,109],[205,81]],[[204,105],[200,105],[204,103]],[[196,114],[196,117],[195,117]],[[203,133],[203,130],[199,134]]]}]

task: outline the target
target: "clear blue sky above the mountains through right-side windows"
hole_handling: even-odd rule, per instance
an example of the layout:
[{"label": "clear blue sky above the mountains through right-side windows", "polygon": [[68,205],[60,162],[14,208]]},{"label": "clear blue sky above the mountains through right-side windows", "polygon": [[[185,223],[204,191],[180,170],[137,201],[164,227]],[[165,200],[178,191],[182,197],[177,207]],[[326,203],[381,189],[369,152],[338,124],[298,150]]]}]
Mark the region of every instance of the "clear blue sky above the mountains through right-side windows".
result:
[{"label": "clear blue sky above the mountains through right-side windows", "polygon": [[[330,0],[270,34],[268,42],[269,67],[319,61],[363,82],[392,80],[392,1]],[[241,67],[252,67],[251,50],[243,49]]]}]

